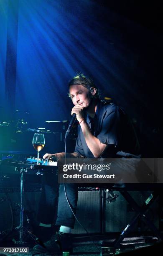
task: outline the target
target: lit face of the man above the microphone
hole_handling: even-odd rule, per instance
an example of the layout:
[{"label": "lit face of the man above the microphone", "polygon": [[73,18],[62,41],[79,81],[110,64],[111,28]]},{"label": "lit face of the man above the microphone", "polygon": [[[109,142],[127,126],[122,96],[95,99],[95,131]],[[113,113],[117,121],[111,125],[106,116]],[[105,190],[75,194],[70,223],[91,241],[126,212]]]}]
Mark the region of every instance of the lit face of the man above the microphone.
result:
[{"label": "lit face of the man above the microphone", "polygon": [[71,85],[69,93],[74,105],[79,104],[83,108],[88,108],[91,103],[89,90],[81,84]]}]

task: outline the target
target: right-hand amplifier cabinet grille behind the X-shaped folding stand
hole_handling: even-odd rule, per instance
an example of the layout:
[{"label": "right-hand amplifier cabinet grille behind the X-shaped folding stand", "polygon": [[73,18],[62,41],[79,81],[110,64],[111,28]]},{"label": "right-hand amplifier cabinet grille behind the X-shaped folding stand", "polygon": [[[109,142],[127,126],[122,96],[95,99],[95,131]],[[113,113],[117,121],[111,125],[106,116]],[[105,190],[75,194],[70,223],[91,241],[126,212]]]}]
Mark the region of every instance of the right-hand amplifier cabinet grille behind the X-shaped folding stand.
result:
[{"label": "right-hand amplifier cabinet grille behind the X-shaped folding stand", "polygon": [[[131,219],[136,215],[136,212],[132,209],[130,204],[125,200],[125,198],[120,194],[119,191],[111,192],[111,197],[117,195],[114,200],[110,203],[105,201],[104,209],[104,231],[107,232],[121,232],[128,224],[130,224]],[[135,202],[142,206],[147,198],[151,195],[150,191],[130,191],[129,194],[133,197]],[[106,192],[105,199],[110,196],[110,192]],[[159,227],[158,219],[158,203],[153,202],[149,207],[146,216],[153,221],[154,225]],[[138,221],[135,228],[132,229],[133,232],[147,231],[146,225],[143,221]]]}]

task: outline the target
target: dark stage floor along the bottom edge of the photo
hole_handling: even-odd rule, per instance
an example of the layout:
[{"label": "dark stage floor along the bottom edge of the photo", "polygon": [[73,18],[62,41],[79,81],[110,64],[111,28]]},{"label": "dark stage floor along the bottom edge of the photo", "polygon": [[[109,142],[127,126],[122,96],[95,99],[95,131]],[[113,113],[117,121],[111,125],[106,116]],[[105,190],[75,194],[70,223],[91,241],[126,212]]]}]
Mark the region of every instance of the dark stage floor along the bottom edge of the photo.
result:
[{"label": "dark stage floor along the bottom edge of the photo", "polygon": [[[71,255],[74,256],[108,256],[108,255],[117,255],[123,253],[122,255],[139,255],[140,251],[143,250],[143,253],[155,253],[160,251],[163,248],[162,242],[158,243],[158,239],[155,236],[130,236],[124,239],[121,243],[121,248],[113,249],[112,247],[107,247],[107,242],[113,242],[115,238],[111,238],[112,235],[107,236],[92,236],[94,245],[92,241],[90,241],[89,237],[76,237],[74,238],[73,243],[73,253]],[[102,241],[105,241],[102,243]],[[49,256],[49,255],[57,255],[53,253],[40,253],[35,254],[33,250],[33,246],[35,243],[33,241],[28,241],[27,244],[23,246],[16,246],[10,241],[3,241],[0,243],[0,247],[29,247],[29,253],[4,253],[0,252],[0,256],[13,256],[13,255],[21,255],[21,256],[33,256],[33,255],[40,255],[40,256]],[[126,248],[124,246],[127,246]],[[158,248],[159,247],[159,248]],[[124,254],[125,253],[125,254]],[[159,254],[157,254],[159,255]]]}]

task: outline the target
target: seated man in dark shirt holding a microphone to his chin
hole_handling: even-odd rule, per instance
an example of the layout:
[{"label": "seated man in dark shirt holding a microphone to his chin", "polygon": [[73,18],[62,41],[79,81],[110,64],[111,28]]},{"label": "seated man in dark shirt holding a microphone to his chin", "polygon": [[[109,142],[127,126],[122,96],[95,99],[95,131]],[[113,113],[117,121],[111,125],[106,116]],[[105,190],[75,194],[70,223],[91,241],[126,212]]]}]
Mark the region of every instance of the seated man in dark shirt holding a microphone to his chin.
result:
[{"label": "seated man in dark shirt holding a microphone to his chin", "polygon": [[[69,96],[74,108],[71,115],[76,114],[79,122],[78,138],[75,152],[67,154],[70,158],[114,158],[133,157],[139,154],[139,145],[135,131],[122,108],[110,102],[99,100],[99,91],[92,79],[79,74],[69,82]],[[44,159],[55,157],[57,161],[65,157],[65,153],[45,154]],[[77,185],[65,184],[66,194],[71,207],[76,212]],[[64,185],[60,184],[59,204],[56,225],[60,230],[50,241],[44,243],[48,251],[53,253],[72,250],[71,229],[74,228],[74,215],[67,203]],[[57,241],[57,243],[56,243]],[[44,249],[37,245],[37,251]]]}]

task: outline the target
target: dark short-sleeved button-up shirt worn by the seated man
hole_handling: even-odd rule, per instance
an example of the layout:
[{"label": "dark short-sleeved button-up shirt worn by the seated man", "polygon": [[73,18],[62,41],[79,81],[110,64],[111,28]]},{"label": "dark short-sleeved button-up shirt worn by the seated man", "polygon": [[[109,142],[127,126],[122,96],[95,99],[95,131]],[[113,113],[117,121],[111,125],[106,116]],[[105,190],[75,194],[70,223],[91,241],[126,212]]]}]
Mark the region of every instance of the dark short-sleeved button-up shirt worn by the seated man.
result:
[{"label": "dark short-sleeved button-up shirt worn by the seated man", "polygon": [[[140,154],[134,128],[122,108],[114,103],[99,100],[94,118],[86,114],[85,119],[92,134],[101,143],[108,145],[102,157],[134,157]],[[87,146],[80,125],[78,126],[75,152],[87,158],[94,158]]]}]

